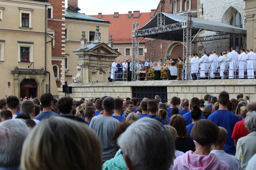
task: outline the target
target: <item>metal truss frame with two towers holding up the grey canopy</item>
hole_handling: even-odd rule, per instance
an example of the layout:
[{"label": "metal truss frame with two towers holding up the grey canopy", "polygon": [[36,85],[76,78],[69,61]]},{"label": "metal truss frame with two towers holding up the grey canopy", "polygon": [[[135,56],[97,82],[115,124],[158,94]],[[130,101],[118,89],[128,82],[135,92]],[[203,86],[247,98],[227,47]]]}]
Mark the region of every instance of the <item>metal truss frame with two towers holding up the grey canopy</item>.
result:
[{"label": "metal truss frame with two towers holding up the grey canopy", "polygon": [[[176,16],[173,14],[168,14],[172,16]],[[157,22],[153,22],[152,20],[157,17]],[[139,29],[139,23],[133,24],[133,30],[132,30],[132,38],[133,38],[133,63],[135,63],[135,66],[133,66],[132,69],[132,81],[138,81],[139,80],[139,70],[136,69],[136,64],[139,62],[139,44],[144,38],[153,38],[153,39],[164,39],[164,40],[170,40],[170,41],[179,41],[183,42],[183,70],[182,70],[182,79],[183,80],[189,80],[190,72],[190,64],[189,64],[189,55],[192,53],[195,53],[195,45],[198,42],[204,42],[204,41],[215,41],[215,40],[222,40],[222,39],[230,39],[230,38],[237,38],[237,37],[243,37],[243,44],[246,46],[246,33],[243,29],[239,29],[236,32],[236,27],[233,28],[233,26],[228,26],[228,24],[224,24],[222,22],[219,22],[223,27],[223,30],[214,30],[210,29],[210,21],[207,21],[208,25],[205,27],[196,27],[193,26],[193,18],[190,12],[187,12],[183,15],[183,20],[180,19],[181,16],[179,16],[179,19],[176,19],[176,23],[170,22],[172,18],[167,17],[166,13],[158,13],[157,16],[155,16],[151,21],[156,26],[152,28],[148,28],[146,24],[141,29]],[[156,20],[156,19],[155,19]],[[202,19],[195,19],[195,20],[201,20]],[[174,21],[174,20],[172,20]],[[217,21],[212,21],[217,22]],[[171,23],[171,24],[170,24]],[[203,23],[199,23],[199,25],[202,25]],[[214,24],[213,24],[214,25]],[[144,27],[146,27],[144,29]],[[204,37],[197,37],[197,34],[200,31],[212,31],[216,34],[204,36]],[[233,30],[233,31],[232,31]]]}]

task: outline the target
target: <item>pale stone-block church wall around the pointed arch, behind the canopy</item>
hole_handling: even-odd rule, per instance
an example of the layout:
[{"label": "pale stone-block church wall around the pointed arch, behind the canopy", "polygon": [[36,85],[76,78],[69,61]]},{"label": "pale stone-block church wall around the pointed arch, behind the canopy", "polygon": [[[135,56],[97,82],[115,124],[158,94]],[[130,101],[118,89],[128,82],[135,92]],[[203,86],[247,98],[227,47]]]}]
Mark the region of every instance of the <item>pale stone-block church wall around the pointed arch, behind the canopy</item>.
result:
[{"label": "pale stone-block church wall around the pointed arch, behind the canopy", "polygon": [[[223,0],[199,0],[197,2],[198,13],[197,17],[207,20],[221,21],[226,24],[229,24],[231,15],[238,11],[242,15],[243,28],[245,20],[245,2],[243,0],[233,0],[233,1],[223,1]],[[208,36],[216,34],[211,31],[203,31],[200,33],[200,36]],[[203,45],[203,46],[202,46]],[[203,48],[204,47],[204,48]],[[220,52],[227,51],[229,49],[229,40],[218,40],[218,41],[207,41],[198,43],[198,54],[201,54],[203,51],[206,53],[216,50],[216,54]],[[240,50],[240,49],[236,49]]]}]

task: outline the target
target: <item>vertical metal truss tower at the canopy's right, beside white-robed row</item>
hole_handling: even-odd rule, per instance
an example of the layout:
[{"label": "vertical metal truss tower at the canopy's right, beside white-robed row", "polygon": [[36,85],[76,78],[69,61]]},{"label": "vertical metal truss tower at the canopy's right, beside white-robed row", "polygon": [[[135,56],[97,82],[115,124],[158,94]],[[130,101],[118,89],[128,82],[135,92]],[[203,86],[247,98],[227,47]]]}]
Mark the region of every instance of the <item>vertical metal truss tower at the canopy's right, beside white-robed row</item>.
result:
[{"label": "vertical metal truss tower at the canopy's right, beside white-robed row", "polygon": [[190,13],[185,13],[183,15],[183,67],[182,67],[182,80],[189,80],[189,55],[191,54],[191,17]]}]

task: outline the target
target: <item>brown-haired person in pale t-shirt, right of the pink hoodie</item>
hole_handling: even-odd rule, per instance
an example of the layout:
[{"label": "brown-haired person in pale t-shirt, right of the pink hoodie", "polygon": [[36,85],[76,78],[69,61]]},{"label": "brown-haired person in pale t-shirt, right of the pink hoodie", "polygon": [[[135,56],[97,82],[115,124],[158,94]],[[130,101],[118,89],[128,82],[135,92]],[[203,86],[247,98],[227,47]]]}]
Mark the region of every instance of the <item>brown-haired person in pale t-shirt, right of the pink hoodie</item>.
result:
[{"label": "brown-haired person in pale t-shirt, right of the pink hoodie", "polygon": [[228,134],[228,131],[221,126],[219,126],[219,129],[219,141],[218,143],[212,144],[212,151],[210,153],[215,154],[220,160],[227,162],[227,164],[230,166],[230,169],[241,170],[239,160],[235,156],[227,154],[224,151],[224,145],[227,141],[226,135]]}]

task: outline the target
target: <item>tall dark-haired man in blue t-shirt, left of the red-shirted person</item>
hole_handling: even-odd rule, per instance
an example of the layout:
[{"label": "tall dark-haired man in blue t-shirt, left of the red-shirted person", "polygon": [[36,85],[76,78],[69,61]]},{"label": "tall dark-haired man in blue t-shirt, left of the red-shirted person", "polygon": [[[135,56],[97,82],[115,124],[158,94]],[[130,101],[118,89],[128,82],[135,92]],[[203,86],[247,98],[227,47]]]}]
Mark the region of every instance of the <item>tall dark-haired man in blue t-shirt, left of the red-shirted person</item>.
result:
[{"label": "tall dark-haired man in blue t-shirt, left of the red-shirted person", "polygon": [[224,151],[229,154],[235,154],[236,148],[234,145],[234,140],[232,139],[232,132],[236,122],[239,121],[238,117],[228,110],[229,93],[226,91],[220,92],[218,96],[218,103],[220,104],[219,110],[216,110],[214,113],[210,114],[208,120],[217,124],[217,126],[224,127],[227,129],[227,142],[224,146]]}]

